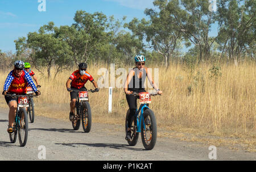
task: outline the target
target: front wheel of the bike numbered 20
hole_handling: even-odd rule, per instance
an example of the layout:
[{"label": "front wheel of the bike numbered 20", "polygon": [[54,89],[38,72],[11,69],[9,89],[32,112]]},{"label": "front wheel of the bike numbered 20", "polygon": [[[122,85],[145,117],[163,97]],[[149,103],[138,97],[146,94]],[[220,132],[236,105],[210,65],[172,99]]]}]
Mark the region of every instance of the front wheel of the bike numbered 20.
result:
[{"label": "front wheel of the bike numbered 20", "polygon": [[28,119],[27,119],[27,112],[24,108],[20,108],[19,110],[18,133],[19,133],[20,146],[25,146],[27,143],[27,135],[28,135]]}]

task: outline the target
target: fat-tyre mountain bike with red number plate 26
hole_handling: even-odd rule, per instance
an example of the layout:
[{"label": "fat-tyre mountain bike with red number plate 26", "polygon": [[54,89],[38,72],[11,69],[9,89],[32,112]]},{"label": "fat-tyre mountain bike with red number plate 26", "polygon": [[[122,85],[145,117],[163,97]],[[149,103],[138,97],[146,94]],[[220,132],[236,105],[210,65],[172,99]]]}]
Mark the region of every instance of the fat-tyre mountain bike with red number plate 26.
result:
[{"label": "fat-tyre mountain bike with red number plate 26", "polygon": [[84,129],[84,132],[88,133],[92,127],[92,112],[90,110],[88,93],[94,93],[94,90],[81,91],[71,89],[71,91],[77,92],[75,115],[72,119],[73,129],[78,130],[82,122],[82,129]]}]

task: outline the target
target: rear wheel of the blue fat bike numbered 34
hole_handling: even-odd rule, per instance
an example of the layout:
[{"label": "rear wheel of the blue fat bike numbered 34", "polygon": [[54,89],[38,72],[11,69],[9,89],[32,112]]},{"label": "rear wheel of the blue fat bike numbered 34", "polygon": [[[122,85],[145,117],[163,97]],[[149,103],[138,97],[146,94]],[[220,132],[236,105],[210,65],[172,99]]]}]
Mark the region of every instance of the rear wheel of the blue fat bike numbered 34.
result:
[{"label": "rear wheel of the blue fat bike numbered 34", "polygon": [[[125,119],[125,132],[127,131],[128,128],[128,116],[130,114],[130,110],[126,112],[126,119]],[[131,118],[131,141],[127,140],[128,144],[130,146],[135,146],[137,144],[138,138],[139,138],[139,133],[137,133],[137,118],[133,116]]]}]

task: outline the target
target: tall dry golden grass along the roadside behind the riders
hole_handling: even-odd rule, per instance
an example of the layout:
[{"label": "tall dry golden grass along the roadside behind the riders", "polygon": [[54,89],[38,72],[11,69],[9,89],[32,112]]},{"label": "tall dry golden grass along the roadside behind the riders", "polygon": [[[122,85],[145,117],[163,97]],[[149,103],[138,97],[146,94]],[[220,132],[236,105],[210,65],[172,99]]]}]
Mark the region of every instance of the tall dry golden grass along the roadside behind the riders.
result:
[{"label": "tall dry golden grass along the roadside behind the riders", "polygon": [[[88,67],[88,72],[96,81],[101,77],[97,74],[100,68],[106,68],[106,65]],[[128,71],[128,66],[123,68]],[[222,65],[221,76],[217,78],[210,78],[210,68],[211,65],[200,65],[189,73],[182,65],[171,64],[167,70],[159,67],[159,87],[163,95],[153,97],[150,104],[158,126],[168,131],[250,138],[250,144],[255,149],[255,64],[245,63],[237,67]],[[42,95],[35,100],[37,115],[68,118],[70,97],[65,82],[73,70],[62,72],[56,79],[50,80],[35,70],[42,85]],[[1,90],[6,76],[6,73],[0,75]],[[86,87],[93,89],[90,82],[86,83]],[[123,89],[113,90],[112,114],[108,114],[108,89],[90,94],[89,99],[93,122],[124,123],[128,106]],[[7,107],[3,97],[0,101],[1,107]]]}]

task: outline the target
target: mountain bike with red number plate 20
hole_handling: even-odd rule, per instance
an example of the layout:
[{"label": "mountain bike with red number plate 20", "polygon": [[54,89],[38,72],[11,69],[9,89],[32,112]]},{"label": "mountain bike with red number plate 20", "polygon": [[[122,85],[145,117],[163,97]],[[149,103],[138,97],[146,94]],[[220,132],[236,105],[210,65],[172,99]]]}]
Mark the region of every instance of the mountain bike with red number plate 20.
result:
[{"label": "mountain bike with red number plate 20", "polygon": [[20,146],[25,146],[27,143],[28,136],[28,119],[26,107],[28,104],[28,97],[35,97],[33,95],[15,95],[7,94],[7,96],[18,98],[18,107],[14,119],[13,132],[9,133],[10,141],[12,143],[16,142],[17,134],[19,136]]}]

